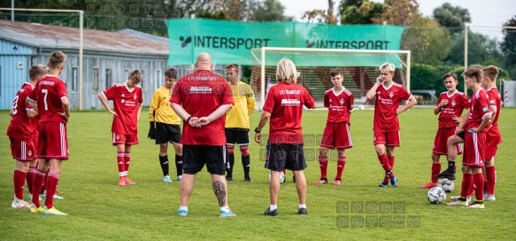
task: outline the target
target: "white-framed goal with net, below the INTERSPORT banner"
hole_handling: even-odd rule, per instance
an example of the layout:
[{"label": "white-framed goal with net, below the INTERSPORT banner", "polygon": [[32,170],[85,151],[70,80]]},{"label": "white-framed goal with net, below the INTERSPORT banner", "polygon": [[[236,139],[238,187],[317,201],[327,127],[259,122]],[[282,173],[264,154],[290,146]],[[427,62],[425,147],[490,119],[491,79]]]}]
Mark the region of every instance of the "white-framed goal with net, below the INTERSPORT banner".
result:
[{"label": "white-framed goal with net, below the INTERSPORT banner", "polygon": [[275,71],[281,58],[294,62],[299,74],[297,83],[303,85],[316,102],[322,103],[324,93],[333,87],[330,71],[343,71],[343,86],[350,89],[357,103],[366,102],[366,92],[380,74],[379,66],[389,62],[396,66],[394,81],[410,90],[411,51],[335,50],[309,48],[263,47],[251,51],[253,66],[250,77],[257,106],[265,103],[266,91],[276,84]]}]

